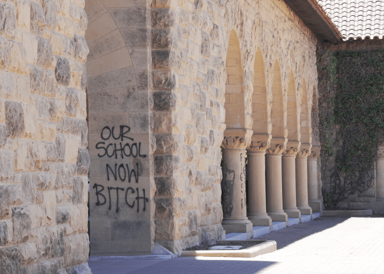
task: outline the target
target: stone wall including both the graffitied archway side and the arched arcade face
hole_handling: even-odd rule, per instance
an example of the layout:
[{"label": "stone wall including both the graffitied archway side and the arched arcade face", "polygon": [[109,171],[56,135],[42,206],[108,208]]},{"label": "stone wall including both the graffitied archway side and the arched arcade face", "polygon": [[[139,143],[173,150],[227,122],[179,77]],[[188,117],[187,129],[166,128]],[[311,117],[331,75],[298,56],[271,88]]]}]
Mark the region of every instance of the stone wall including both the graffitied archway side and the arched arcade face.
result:
[{"label": "stone wall including both the graffitied archway side and the arched arcade face", "polygon": [[[91,254],[150,254],[153,241],[180,253],[221,238],[225,120],[253,130],[253,146],[285,145],[291,130],[309,148],[315,36],[281,0],[88,0],[85,10]],[[145,157],[115,158],[120,141],[104,138],[121,125],[131,138],[121,145],[141,142]],[[138,181],[108,178],[127,163]]]}]

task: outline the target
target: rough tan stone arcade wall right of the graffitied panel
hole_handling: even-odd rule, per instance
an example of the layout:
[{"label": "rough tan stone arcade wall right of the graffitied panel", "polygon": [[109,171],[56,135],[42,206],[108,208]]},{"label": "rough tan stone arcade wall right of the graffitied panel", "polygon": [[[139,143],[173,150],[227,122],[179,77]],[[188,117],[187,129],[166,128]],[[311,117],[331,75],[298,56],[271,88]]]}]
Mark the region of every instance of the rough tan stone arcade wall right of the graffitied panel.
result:
[{"label": "rough tan stone arcade wall right of the graffitied panel", "polygon": [[[316,38],[283,1],[277,0],[155,0],[150,16],[155,240],[180,252],[185,246],[221,237],[220,145],[228,111],[224,102],[232,102],[232,94],[224,94],[228,85],[239,84],[242,91],[238,92],[243,92],[237,107],[242,105],[244,116],[237,127],[253,129],[253,134],[271,134],[281,123],[280,134],[287,137],[289,81],[294,78],[289,100],[300,105],[305,98],[308,109],[317,88]],[[235,64],[237,59],[233,53],[227,55],[237,46],[229,41],[231,33],[238,41],[240,77],[230,68],[236,65],[227,63]],[[256,54],[257,50],[261,54]],[[256,56],[262,57],[261,62]],[[259,63],[265,77],[256,82],[253,75]],[[276,86],[281,86],[283,98],[282,109],[271,115],[275,107],[274,67],[280,72]],[[262,102],[255,92],[258,87],[264,88],[260,95],[266,93],[265,114],[252,113],[252,103]],[[299,115],[300,107],[295,111]],[[311,133],[310,113],[307,115],[300,120],[302,127],[307,127],[303,131],[305,143],[310,142]],[[257,127],[261,121],[267,124],[260,127],[264,131]],[[167,191],[159,191],[162,189]]]}]

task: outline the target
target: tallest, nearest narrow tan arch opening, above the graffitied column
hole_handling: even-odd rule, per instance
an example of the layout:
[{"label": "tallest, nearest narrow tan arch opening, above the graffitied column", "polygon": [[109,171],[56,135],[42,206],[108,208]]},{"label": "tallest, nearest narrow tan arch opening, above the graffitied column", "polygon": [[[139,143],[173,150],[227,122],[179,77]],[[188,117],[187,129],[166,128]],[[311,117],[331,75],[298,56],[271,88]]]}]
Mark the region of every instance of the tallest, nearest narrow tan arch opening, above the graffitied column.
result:
[{"label": "tallest, nearest narrow tan arch opening, above the graffitied column", "polygon": [[242,77],[240,45],[234,30],[229,34],[225,71],[224,108],[226,128],[244,128],[244,81]]}]

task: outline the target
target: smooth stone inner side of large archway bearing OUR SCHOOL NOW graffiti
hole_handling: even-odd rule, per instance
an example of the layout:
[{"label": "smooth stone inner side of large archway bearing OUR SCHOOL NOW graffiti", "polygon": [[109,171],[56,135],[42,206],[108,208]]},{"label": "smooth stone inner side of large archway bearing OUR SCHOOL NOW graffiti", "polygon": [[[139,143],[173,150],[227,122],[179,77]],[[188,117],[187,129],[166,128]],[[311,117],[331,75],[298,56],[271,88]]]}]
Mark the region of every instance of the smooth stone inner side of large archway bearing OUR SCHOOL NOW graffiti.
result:
[{"label": "smooth stone inner side of large archway bearing OUR SCHOOL NOW graffiti", "polygon": [[91,0],[85,11],[90,254],[150,254],[146,7]]}]

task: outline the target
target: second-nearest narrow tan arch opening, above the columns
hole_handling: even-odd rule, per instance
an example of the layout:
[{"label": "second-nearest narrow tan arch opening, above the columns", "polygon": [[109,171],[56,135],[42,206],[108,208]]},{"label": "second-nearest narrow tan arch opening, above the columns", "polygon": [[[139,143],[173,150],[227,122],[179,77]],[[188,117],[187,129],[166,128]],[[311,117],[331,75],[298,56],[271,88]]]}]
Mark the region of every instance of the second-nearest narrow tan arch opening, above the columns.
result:
[{"label": "second-nearest narrow tan arch opening, above the columns", "polygon": [[269,134],[272,129],[270,122],[270,98],[266,94],[265,68],[261,49],[258,47],[254,59],[252,118],[253,134]]}]

